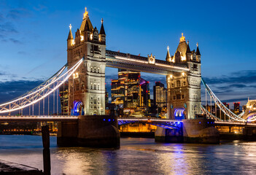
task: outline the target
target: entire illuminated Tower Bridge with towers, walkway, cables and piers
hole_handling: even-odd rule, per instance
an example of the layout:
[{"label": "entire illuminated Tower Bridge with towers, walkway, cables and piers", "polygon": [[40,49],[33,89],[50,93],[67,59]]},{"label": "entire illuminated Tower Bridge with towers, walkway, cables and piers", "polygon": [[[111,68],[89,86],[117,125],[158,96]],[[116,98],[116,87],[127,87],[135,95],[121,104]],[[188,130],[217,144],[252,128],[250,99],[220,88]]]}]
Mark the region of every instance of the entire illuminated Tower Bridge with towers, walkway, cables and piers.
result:
[{"label": "entire illuminated Tower Bridge with towers, walkway, cables and piers", "polygon": [[[247,110],[249,119],[243,117],[242,114],[234,114],[222,104],[206,82],[201,79],[201,53],[198,44],[196,50],[190,50],[190,44],[182,34],[173,56],[167,48],[165,61],[156,59],[152,54],[143,57],[106,50],[106,33],[103,22],[101,20],[100,31],[96,27],[93,28],[88,11],[85,9],[82,24],[79,29],[77,28],[75,37],[73,37],[70,25],[66,65],[42,85],[12,101],[0,104],[0,114],[9,113],[8,116],[0,116],[0,122],[56,121],[58,122],[60,144],[76,140],[77,143],[82,143],[81,145],[100,146],[101,143],[104,143],[109,147],[114,146],[115,143],[118,144],[117,124],[149,123],[162,128],[156,132],[158,137],[171,136],[171,140],[173,140],[175,136],[179,136],[203,140],[201,139],[203,136],[206,141],[209,141],[207,138],[214,138],[212,142],[209,141],[211,143],[217,142],[218,134],[214,125],[255,126],[254,123],[248,123],[256,120],[255,113]],[[105,115],[106,66],[165,75],[167,119],[117,119],[115,116]],[[68,101],[61,105],[67,106],[68,116],[51,116],[49,111],[50,95],[53,94],[53,113],[55,113],[54,109],[58,113],[58,96],[55,98],[54,93],[67,81]],[[208,93],[210,96],[211,104],[213,100],[220,111],[227,115],[228,122],[214,116],[211,113],[212,110],[208,112],[203,108],[201,105],[201,82],[206,88],[206,95]],[[34,115],[34,105],[38,105],[39,116]],[[255,109],[254,104],[249,107]],[[48,112],[45,112],[45,108]],[[23,115],[23,109],[28,109],[28,116]],[[21,117],[11,115],[11,112],[18,110],[20,110]],[[205,114],[209,120],[196,118],[200,114]],[[78,115],[78,117],[74,115]]]}]

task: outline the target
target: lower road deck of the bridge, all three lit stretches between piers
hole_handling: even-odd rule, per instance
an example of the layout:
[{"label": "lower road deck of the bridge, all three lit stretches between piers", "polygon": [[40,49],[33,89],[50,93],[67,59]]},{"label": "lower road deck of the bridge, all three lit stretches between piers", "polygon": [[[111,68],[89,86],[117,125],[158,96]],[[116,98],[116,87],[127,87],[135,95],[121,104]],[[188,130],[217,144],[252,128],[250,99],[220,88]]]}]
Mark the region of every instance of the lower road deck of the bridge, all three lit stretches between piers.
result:
[{"label": "lower road deck of the bridge, all three lit stretches between piers", "polygon": [[[75,122],[78,120],[77,116],[67,116],[67,115],[0,115],[0,122]],[[165,123],[169,125],[174,125],[175,123],[182,123],[182,120],[167,120],[158,118],[148,118],[148,117],[123,117],[118,118],[118,123],[120,125],[125,123]],[[239,123],[233,121],[215,121],[215,125],[220,126],[252,126],[256,127],[256,123]]]}]

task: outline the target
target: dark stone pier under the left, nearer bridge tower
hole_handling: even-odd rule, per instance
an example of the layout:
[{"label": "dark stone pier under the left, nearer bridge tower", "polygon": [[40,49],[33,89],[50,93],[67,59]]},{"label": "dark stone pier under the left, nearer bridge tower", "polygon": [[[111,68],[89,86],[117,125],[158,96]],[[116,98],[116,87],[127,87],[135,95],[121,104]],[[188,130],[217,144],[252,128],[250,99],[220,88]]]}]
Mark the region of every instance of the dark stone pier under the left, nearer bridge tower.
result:
[{"label": "dark stone pier under the left, nearer bridge tower", "polygon": [[58,123],[57,144],[61,147],[120,147],[117,117],[79,116],[77,123]]}]

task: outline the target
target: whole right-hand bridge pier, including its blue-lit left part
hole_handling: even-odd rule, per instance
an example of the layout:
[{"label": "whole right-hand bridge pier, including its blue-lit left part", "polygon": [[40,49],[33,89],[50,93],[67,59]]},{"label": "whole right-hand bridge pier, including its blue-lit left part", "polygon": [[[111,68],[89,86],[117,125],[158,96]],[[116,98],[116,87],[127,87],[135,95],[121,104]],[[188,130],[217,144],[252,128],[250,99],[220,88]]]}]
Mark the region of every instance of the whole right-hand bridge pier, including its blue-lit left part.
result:
[{"label": "whole right-hand bridge pier, including its blue-lit left part", "polygon": [[220,133],[214,128],[214,120],[182,120],[182,128],[166,129],[158,127],[155,141],[167,143],[219,144]]}]

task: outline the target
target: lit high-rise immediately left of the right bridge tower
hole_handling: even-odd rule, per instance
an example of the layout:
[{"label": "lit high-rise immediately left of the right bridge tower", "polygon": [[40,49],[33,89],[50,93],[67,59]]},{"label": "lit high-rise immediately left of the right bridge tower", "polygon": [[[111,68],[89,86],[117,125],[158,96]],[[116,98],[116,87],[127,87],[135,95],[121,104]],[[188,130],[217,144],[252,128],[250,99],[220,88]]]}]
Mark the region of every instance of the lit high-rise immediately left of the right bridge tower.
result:
[{"label": "lit high-rise immediately left of the right bridge tower", "polygon": [[163,83],[155,82],[154,86],[154,105],[157,107],[166,106],[166,95],[167,91],[164,88]]}]

